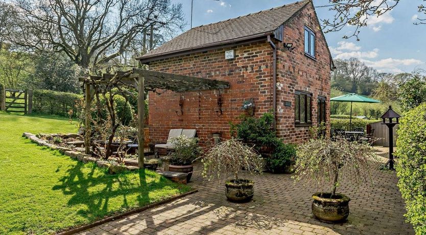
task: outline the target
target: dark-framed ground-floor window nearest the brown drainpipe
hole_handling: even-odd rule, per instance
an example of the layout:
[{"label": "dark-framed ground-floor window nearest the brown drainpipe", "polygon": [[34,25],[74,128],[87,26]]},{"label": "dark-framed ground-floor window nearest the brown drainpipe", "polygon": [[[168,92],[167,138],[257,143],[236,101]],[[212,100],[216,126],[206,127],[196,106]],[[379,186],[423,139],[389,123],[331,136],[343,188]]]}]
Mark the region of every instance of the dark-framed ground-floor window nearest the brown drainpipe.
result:
[{"label": "dark-framed ground-floor window nearest the brown drainpipe", "polygon": [[296,90],[294,104],[295,125],[312,125],[312,94]]}]

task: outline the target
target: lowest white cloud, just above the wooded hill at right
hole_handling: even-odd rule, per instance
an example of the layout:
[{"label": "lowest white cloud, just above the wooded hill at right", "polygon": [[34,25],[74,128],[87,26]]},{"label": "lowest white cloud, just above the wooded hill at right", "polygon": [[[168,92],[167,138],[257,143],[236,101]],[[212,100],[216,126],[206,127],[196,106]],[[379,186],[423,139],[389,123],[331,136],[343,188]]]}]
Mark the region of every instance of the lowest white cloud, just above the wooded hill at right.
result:
[{"label": "lowest white cloud, just above the wooded hill at right", "polygon": [[400,69],[403,66],[411,66],[411,65],[420,65],[423,62],[417,59],[381,59],[377,61],[364,60],[361,59],[367,66],[373,67],[377,69],[379,72],[389,72],[389,73],[401,73],[404,72]]}]

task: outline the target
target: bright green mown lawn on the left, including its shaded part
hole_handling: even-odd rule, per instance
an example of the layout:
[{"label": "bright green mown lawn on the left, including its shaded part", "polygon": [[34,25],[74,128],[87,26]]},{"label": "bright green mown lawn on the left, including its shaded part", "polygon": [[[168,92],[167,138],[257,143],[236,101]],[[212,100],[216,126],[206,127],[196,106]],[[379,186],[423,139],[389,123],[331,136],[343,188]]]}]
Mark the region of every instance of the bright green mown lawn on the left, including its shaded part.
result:
[{"label": "bright green mown lawn on the left, including its shaded part", "polygon": [[191,190],[149,170],[109,175],[21,137],[76,130],[66,118],[0,112],[0,234],[51,234]]}]

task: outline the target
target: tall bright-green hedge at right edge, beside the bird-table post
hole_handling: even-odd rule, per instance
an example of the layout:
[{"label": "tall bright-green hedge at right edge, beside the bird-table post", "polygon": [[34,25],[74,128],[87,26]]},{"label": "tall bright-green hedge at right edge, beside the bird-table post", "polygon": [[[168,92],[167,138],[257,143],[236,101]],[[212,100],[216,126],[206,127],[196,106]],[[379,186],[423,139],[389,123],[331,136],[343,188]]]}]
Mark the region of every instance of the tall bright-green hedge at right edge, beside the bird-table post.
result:
[{"label": "tall bright-green hedge at right edge, beside the bird-table post", "polygon": [[397,130],[396,172],[407,221],[426,234],[426,104],[404,113]]}]

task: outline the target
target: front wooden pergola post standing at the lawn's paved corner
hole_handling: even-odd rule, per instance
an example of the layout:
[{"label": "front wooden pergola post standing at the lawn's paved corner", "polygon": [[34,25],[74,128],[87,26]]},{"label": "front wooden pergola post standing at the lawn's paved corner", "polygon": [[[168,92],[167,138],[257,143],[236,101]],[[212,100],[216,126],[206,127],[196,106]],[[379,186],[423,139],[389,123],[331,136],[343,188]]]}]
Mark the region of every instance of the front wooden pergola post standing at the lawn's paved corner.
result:
[{"label": "front wooden pergola post standing at the lawn's paved corner", "polygon": [[144,168],[144,145],[145,145],[145,135],[144,135],[144,115],[145,115],[145,78],[139,76],[138,79],[138,90],[137,90],[137,139],[138,145],[137,148],[137,165],[139,169]]}]

